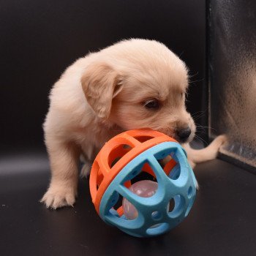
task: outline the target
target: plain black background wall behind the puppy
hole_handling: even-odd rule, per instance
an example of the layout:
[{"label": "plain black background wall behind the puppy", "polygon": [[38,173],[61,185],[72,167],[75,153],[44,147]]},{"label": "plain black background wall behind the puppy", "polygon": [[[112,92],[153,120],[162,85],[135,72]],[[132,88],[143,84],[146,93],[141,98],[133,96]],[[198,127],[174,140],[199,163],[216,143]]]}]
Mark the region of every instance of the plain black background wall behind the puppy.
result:
[{"label": "plain black background wall behind the puppy", "polygon": [[42,146],[48,93],[64,69],[129,37],[157,39],[181,56],[199,80],[188,109],[201,111],[205,14],[202,0],[0,1],[0,149]]}]

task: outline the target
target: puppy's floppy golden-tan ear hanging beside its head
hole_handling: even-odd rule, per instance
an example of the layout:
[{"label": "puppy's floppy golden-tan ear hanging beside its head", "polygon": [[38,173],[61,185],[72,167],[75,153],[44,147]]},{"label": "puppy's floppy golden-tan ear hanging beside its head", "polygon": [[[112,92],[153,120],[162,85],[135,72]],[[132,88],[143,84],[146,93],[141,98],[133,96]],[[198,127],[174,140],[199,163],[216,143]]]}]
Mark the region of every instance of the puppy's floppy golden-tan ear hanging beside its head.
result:
[{"label": "puppy's floppy golden-tan ear hanging beside its head", "polygon": [[91,64],[81,78],[87,102],[100,118],[110,115],[112,99],[121,91],[121,76],[105,63]]}]

